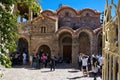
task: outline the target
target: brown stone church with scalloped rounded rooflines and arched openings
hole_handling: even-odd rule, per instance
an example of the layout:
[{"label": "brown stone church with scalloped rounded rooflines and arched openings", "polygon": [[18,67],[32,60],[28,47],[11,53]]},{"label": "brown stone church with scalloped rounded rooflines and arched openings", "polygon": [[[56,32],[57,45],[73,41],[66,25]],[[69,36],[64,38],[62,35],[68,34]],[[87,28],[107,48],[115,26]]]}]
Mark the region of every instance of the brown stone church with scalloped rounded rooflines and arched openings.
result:
[{"label": "brown stone church with scalloped rounded rooflines and arched openings", "polygon": [[102,53],[100,12],[89,8],[76,10],[63,5],[56,11],[44,10],[42,15],[21,22],[17,50],[62,57],[77,63],[78,53]]}]

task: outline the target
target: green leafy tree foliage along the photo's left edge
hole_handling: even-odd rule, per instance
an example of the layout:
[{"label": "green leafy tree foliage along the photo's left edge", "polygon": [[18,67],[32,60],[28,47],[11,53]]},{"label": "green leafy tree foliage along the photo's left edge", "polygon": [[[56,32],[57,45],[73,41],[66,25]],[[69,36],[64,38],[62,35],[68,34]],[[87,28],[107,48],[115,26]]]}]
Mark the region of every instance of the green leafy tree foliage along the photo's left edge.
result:
[{"label": "green leafy tree foliage along the photo's left edge", "polygon": [[[27,2],[28,1],[28,2]],[[1,0],[0,1],[0,63],[5,67],[10,67],[11,62],[8,53],[15,51],[18,38],[19,25],[16,14],[12,13],[13,4],[24,3],[37,12],[40,7],[36,0]]]}]

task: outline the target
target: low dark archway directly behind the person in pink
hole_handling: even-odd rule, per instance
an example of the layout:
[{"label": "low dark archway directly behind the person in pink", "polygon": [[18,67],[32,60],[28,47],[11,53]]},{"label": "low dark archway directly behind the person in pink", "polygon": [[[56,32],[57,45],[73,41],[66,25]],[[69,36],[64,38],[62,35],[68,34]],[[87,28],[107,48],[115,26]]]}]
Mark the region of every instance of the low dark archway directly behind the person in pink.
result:
[{"label": "low dark archway directly behind the person in pink", "polygon": [[41,45],[38,49],[37,52],[40,56],[42,55],[42,53],[44,53],[45,55],[47,55],[49,58],[51,57],[51,50],[47,45]]}]

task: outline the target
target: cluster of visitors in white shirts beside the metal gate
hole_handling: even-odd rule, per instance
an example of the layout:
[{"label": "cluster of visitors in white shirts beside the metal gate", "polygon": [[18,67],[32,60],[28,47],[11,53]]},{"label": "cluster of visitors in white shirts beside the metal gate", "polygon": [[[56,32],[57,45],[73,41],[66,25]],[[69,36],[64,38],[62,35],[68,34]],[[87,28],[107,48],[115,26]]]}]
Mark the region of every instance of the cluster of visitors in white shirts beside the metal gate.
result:
[{"label": "cluster of visitors in white shirts beside the metal gate", "polygon": [[91,56],[80,53],[78,55],[79,69],[83,71],[83,75],[93,74],[94,80],[98,74],[102,75],[102,56],[93,54]]}]

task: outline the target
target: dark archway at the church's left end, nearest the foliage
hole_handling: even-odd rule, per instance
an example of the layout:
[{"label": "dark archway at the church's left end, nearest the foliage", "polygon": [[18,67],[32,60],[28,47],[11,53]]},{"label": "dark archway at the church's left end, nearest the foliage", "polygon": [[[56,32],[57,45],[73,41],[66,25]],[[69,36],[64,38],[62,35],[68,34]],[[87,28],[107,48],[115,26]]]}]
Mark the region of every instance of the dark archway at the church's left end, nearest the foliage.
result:
[{"label": "dark archway at the church's left end, nearest the foliage", "polygon": [[28,53],[28,41],[25,38],[19,38],[17,42],[17,51]]}]

